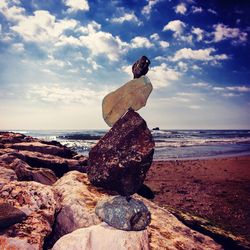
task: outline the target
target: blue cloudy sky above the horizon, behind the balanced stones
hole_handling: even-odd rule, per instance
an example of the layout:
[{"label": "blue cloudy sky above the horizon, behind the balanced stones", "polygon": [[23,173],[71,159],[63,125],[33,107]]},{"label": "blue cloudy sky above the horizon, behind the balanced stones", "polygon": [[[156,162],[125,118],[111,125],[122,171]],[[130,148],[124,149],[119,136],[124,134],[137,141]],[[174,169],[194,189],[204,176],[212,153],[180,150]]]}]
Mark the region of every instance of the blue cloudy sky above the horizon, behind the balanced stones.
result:
[{"label": "blue cloudy sky above the horizon, behind the balanced stones", "polygon": [[0,129],[107,129],[142,55],[149,128],[250,129],[250,1],[1,0]]}]

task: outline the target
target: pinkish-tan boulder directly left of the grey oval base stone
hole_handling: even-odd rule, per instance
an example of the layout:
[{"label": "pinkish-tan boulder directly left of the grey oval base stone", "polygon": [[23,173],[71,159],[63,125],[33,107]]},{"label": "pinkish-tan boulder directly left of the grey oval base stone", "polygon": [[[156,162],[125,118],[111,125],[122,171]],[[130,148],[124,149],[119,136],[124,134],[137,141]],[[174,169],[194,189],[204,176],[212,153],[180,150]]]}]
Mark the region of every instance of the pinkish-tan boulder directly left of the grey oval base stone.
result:
[{"label": "pinkish-tan boulder directly left of the grey oval base stone", "polygon": [[54,184],[53,190],[60,197],[61,210],[56,218],[52,244],[61,236],[78,228],[101,222],[94,208],[97,200],[104,197],[104,194],[98,193],[96,196],[91,193],[95,188],[89,185],[86,175],[71,171]]}]

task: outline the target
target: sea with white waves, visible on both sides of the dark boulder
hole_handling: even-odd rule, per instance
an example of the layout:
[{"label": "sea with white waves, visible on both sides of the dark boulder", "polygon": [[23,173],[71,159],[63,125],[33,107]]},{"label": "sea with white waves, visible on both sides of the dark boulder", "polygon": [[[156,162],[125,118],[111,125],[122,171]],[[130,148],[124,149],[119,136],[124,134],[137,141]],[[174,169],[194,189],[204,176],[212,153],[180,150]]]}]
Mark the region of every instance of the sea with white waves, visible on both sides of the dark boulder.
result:
[{"label": "sea with white waves, visible on both sides of the dark boulder", "polygon": [[[79,154],[89,150],[107,130],[11,130],[39,139],[59,141]],[[154,160],[250,155],[250,130],[151,130]]]}]

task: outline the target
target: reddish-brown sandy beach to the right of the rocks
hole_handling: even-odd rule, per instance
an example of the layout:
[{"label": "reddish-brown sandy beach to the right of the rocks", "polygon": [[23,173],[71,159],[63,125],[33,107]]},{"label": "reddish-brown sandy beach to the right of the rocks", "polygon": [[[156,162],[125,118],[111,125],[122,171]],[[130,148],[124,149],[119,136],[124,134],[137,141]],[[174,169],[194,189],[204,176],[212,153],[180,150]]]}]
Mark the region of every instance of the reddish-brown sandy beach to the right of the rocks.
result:
[{"label": "reddish-brown sandy beach to the right of the rocks", "polygon": [[250,156],[154,161],[145,184],[159,205],[250,239]]}]

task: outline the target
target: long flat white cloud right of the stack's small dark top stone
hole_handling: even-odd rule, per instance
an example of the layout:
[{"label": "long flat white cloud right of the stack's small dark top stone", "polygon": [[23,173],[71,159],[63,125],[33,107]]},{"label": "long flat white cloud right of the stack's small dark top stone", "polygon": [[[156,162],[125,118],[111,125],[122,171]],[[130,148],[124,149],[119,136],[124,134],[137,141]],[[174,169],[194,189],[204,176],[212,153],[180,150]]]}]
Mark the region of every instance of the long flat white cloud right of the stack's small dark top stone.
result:
[{"label": "long flat white cloud right of the stack's small dark top stone", "polygon": [[191,48],[183,48],[176,51],[175,55],[170,58],[172,61],[178,61],[181,59],[191,59],[200,61],[217,61],[228,59],[226,54],[212,55],[215,52],[214,48],[193,50]]}]

